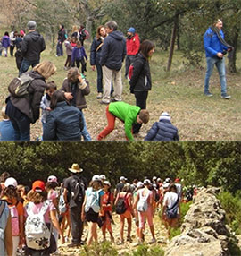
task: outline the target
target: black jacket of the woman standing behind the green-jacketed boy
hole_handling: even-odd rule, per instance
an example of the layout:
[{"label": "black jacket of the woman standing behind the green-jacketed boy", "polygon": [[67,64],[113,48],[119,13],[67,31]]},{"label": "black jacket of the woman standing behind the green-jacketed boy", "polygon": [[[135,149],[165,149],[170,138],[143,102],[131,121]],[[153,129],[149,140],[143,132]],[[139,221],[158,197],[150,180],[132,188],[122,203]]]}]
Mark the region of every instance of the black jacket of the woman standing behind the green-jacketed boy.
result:
[{"label": "black jacket of the woman standing behind the green-jacketed boy", "polygon": [[133,74],[129,81],[130,91],[146,91],[152,89],[150,65],[145,56],[139,53],[133,63]]}]

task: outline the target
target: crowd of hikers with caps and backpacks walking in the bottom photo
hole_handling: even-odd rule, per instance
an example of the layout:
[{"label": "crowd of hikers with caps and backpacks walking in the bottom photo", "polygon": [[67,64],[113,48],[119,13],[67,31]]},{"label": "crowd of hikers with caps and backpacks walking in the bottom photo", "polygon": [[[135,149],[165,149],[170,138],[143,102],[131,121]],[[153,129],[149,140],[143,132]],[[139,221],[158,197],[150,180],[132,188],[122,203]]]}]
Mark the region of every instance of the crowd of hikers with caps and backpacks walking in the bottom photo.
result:
[{"label": "crowd of hikers with caps and backpacks walking in the bottom photo", "polygon": [[[29,186],[19,184],[7,172],[1,175],[0,232],[3,231],[3,239],[0,239],[0,255],[15,256],[23,249],[25,255],[47,256],[58,252],[58,243],[69,239],[68,247],[90,245],[98,241],[98,227],[103,240],[108,232],[112,243],[132,243],[132,219],[138,243],[156,243],[154,213],[157,207],[162,208],[168,235],[170,227],[178,225],[182,198],[179,179],[171,183],[167,178],[163,183],[160,178],[153,177],[150,181],[145,177],[143,183],[134,180],[130,184],[121,176],[120,183],[113,188],[105,175],[94,175],[87,183],[78,164],[73,164],[69,172],[61,185],[54,175]],[[120,216],[119,241],[112,231],[114,209]],[[124,239],[125,220],[127,239]],[[151,241],[145,239],[145,222],[150,228]],[[84,223],[88,226],[86,237]]]}]

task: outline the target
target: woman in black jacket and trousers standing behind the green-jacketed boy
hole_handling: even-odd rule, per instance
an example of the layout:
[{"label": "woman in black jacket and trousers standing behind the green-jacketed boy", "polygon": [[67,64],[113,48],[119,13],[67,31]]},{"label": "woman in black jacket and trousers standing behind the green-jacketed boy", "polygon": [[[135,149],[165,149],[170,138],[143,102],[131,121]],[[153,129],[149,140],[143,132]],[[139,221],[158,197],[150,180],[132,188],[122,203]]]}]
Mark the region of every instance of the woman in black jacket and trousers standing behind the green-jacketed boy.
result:
[{"label": "woman in black jacket and trousers standing behind the green-jacketed boy", "polygon": [[[149,66],[149,59],[154,54],[154,43],[145,40],[141,43],[139,53],[133,63],[133,74],[129,81],[129,90],[135,94],[136,105],[146,109],[148,91],[152,89],[152,78]],[[133,134],[137,134],[141,124],[133,125]]]}]

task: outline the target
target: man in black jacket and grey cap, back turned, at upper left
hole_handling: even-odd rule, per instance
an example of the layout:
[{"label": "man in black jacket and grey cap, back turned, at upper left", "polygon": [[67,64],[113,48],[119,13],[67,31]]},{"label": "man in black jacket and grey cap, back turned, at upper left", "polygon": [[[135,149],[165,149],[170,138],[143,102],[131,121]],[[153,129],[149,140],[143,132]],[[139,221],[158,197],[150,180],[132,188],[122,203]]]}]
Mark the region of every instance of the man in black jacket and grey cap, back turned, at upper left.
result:
[{"label": "man in black jacket and grey cap, back turned, at upper left", "polygon": [[46,49],[45,39],[36,31],[36,22],[29,21],[27,24],[29,33],[23,38],[21,45],[21,63],[20,76],[28,71],[29,66],[35,67],[39,64],[40,53]]}]

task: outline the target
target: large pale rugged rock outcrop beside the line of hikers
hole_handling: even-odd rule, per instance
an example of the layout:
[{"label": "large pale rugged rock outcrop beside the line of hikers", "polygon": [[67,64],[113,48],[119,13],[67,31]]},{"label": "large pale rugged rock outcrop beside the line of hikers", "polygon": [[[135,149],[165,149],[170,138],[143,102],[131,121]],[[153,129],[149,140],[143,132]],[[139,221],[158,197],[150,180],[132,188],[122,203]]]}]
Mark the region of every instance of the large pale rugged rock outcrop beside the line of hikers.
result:
[{"label": "large pale rugged rock outcrop beside the line of hikers", "polygon": [[182,234],[171,239],[165,256],[234,256],[229,252],[234,237],[225,225],[218,192],[217,188],[198,192],[181,226]]}]

